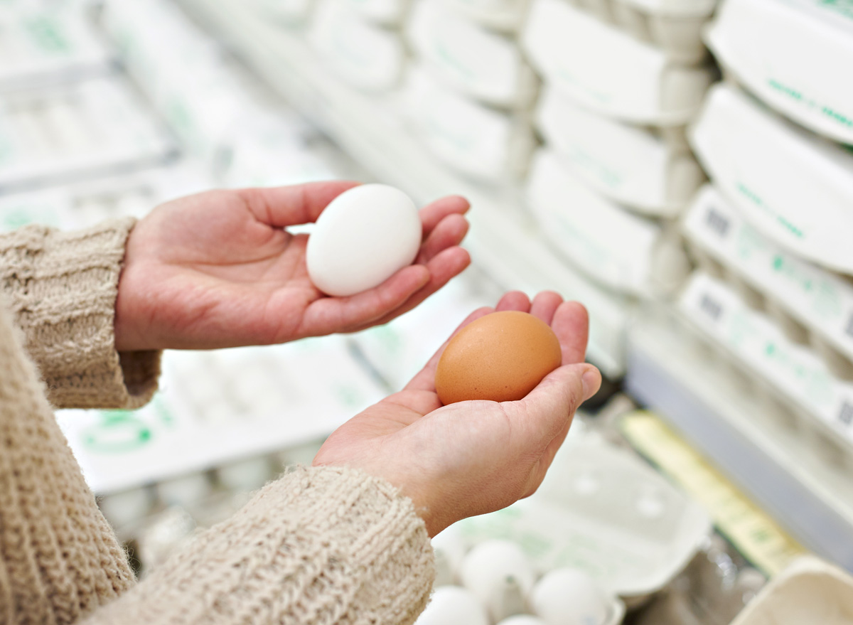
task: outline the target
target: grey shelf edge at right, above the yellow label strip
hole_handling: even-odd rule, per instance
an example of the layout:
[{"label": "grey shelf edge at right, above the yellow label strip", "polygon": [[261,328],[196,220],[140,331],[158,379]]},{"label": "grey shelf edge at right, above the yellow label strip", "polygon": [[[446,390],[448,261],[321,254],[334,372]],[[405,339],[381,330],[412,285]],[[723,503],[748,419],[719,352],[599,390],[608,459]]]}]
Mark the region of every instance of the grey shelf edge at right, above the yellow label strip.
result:
[{"label": "grey shelf edge at right, above the yellow label strip", "polygon": [[853,482],[709,360],[671,313],[632,328],[626,386],[804,546],[853,570]]}]

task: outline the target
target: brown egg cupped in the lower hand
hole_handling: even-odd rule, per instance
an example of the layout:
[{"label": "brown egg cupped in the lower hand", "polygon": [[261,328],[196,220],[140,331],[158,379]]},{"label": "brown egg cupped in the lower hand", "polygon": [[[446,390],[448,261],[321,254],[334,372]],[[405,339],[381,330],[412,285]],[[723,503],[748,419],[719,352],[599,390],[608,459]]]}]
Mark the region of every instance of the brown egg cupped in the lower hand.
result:
[{"label": "brown egg cupped in the lower hand", "polygon": [[438,399],[520,400],[560,366],[560,341],[542,319],[490,313],[453,337],[435,372]]}]

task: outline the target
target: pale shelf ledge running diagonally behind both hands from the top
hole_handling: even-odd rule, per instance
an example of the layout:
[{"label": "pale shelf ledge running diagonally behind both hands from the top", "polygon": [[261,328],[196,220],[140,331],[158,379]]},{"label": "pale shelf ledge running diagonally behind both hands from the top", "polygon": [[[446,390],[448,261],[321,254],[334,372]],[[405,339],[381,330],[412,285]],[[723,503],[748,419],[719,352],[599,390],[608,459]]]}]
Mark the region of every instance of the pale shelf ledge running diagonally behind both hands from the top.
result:
[{"label": "pale shelf ledge running diagonally behind both hands from the top", "polygon": [[419,203],[466,196],[473,207],[467,248],[474,262],[504,288],[556,289],[583,301],[593,318],[589,359],[609,377],[624,373],[630,302],[598,289],[547,248],[523,211],[517,184],[484,187],[456,175],[410,135],[392,96],[372,96],[330,79],[299,32],[258,14],[251,3],[178,1],[376,178]]}]

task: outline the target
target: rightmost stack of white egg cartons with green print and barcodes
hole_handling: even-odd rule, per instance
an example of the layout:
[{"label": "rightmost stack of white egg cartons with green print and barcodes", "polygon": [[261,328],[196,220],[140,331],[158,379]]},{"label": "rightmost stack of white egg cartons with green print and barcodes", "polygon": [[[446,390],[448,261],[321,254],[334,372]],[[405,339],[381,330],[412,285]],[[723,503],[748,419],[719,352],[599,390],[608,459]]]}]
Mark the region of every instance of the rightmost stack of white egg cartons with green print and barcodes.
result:
[{"label": "rightmost stack of white egg cartons with green print and barcodes", "polygon": [[728,81],[690,132],[713,186],[685,220],[704,271],[682,309],[849,470],[853,6],[724,0],[706,38]]}]

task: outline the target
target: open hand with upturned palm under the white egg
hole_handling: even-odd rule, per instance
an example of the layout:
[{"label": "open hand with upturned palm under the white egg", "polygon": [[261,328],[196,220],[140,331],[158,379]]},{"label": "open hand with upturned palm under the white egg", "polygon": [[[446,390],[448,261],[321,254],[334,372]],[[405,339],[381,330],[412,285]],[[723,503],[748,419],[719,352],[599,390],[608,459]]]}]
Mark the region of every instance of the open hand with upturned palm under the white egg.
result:
[{"label": "open hand with upturned palm under the white egg", "polygon": [[155,208],[127,242],[116,348],[228,348],[363,330],[414,308],[467,267],[457,246],[468,203],[444,197],[421,209],[413,265],[357,295],[322,294],[305,268],[308,236],[284,229],[315,221],[356,185],[215,190]]}]

